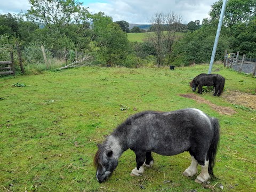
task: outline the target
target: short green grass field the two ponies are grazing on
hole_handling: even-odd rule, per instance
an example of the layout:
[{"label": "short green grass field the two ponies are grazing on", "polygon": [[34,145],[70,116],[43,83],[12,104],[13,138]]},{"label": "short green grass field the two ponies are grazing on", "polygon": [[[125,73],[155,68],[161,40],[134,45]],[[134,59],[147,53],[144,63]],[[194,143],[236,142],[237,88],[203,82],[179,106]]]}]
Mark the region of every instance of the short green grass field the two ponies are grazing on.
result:
[{"label": "short green grass field the two ponies are grazing on", "polygon": [[[214,65],[213,73],[226,77],[223,95],[193,93],[188,82],[207,70],[207,65],[174,70],[82,67],[1,78],[0,191],[253,191],[256,112],[227,97],[231,91],[256,97],[256,79]],[[219,118],[218,179],[200,185],[195,177],[183,177],[190,165],[187,152],[153,154],[154,166],[131,177],[135,155],[127,150],[111,178],[97,182],[92,165],[97,143],[125,118],[143,110],[188,107]],[[219,108],[235,113],[223,114]]]}]

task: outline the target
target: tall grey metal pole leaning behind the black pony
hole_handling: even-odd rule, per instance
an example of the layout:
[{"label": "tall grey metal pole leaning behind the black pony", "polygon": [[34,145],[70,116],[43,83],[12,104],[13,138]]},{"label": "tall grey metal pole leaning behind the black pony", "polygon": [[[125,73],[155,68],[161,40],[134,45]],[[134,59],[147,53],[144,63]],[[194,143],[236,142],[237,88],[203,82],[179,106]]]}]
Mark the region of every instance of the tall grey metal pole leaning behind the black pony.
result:
[{"label": "tall grey metal pole leaning behind the black pony", "polygon": [[222,26],[222,21],[223,21],[225,9],[226,9],[227,1],[228,0],[224,0],[223,4],[222,4],[220,19],[219,19],[219,25],[218,25],[218,29],[217,29],[217,33],[216,33],[216,36],[215,36],[213,49],[212,49],[212,57],[211,57],[211,61],[210,61],[208,74],[211,74],[211,72],[212,72],[212,65],[213,65],[213,61],[214,61],[214,57],[215,57],[215,53],[216,53],[216,49],[217,49],[217,45],[218,45],[218,41],[219,41],[220,30],[221,30],[221,26]]}]

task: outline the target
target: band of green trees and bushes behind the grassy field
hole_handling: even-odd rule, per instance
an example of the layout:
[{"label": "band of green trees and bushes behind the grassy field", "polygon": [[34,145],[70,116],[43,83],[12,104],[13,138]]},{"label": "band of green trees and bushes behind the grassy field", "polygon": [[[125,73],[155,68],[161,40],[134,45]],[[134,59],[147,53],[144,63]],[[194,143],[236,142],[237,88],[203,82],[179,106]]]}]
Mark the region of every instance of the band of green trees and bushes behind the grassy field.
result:
[{"label": "band of green trees and bushes behind the grassy field", "polygon": [[[28,0],[26,13],[0,15],[0,44],[19,42],[35,52],[38,45],[49,49],[83,51],[94,65],[138,67],[186,66],[209,62],[221,12],[222,0],[211,5],[210,18],[182,23],[182,15],[156,13],[148,31],[126,21],[113,21],[103,12],[90,13],[75,0]],[[229,0],[215,60],[225,50],[256,58],[256,0]],[[145,32],[142,43],[129,42],[127,33]],[[0,60],[1,60],[0,54]]]}]

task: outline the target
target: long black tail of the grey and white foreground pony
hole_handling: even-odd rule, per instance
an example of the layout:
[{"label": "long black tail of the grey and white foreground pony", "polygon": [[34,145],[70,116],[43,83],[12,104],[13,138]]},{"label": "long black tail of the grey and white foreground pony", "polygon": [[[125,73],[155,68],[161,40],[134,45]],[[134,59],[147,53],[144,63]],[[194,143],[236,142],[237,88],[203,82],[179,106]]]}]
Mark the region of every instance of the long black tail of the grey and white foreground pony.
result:
[{"label": "long black tail of the grey and white foreground pony", "polygon": [[214,177],[213,167],[214,167],[214,164],[215,164],[215,157],[216,157],[216,154],[217,154],[218,143],[219,143],[219,140],[220,140],[220,124],[219,124],[219,121],[218,121],[217,118],[212,118],[212,121],[213,121],[214,135],[213,135],[213,139],[212,139],[212,142],[211,142],[211,145],[210,145],[210,148],[208,150],[207,155],[208,155],[208,158],[209,158],[208,172],[212,177]]}]

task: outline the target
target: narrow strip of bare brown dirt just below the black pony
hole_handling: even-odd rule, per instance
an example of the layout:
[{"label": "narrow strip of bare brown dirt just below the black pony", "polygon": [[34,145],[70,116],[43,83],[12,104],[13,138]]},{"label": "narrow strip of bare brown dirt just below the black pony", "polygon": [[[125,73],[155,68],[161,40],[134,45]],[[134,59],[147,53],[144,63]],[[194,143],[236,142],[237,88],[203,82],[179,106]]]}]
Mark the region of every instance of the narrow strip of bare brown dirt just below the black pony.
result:
[{"label": "narrow strip of bare brown dirt just below the black pony", "polygon": [[213,110],[217,111],[219,114],[233,115],[236,113],[236,111],[230,107],[222,107],[222,106],[215,105],[211,101],[201,98],[200,96],[197,96],[194,93],[180,94],[180,96],[185,97],[185,98],[194,99],[197,103],[205,103],[205,104],[209,105]]}]

